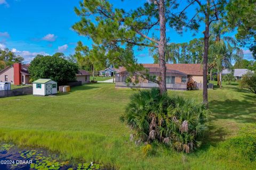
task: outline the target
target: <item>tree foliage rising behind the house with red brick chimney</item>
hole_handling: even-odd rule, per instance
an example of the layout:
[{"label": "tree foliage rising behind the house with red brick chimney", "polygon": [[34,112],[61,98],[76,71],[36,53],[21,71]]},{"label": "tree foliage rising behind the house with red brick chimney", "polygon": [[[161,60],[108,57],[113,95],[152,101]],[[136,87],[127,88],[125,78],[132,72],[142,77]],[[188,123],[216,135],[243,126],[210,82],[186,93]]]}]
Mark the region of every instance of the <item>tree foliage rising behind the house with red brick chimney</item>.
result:
[{"label": "tree foliage rising behind the house with red brick chimney", "polygon": [[23,61],[23,57],[15,55],[9,49],[0,49],[0,70],[4,69],[6,66],[12,65],[13,63],[22,63]]}]

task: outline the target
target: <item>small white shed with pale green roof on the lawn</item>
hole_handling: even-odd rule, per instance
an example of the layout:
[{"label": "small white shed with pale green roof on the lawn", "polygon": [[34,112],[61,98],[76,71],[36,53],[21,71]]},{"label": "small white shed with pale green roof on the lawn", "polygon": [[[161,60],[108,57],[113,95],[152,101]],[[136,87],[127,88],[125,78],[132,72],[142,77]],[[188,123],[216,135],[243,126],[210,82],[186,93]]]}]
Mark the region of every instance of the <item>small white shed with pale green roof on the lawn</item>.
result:
[{"label": "small white shed with pale green roof on the lawn", "polygon": [[47,96],[57,94],[57,82],[51,79],[38,79],[33,82],[33,95]]}]

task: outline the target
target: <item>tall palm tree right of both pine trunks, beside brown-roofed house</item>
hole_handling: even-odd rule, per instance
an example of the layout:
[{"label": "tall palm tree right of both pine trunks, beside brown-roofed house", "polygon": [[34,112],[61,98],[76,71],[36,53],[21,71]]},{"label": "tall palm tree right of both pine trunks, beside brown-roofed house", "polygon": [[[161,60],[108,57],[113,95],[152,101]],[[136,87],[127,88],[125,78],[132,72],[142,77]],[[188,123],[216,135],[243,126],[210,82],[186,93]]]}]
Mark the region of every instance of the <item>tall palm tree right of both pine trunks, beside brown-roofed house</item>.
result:
[{"label": "tall palm tree right of both pine trunks, beside brown-roofed house", "polygon": [[228,28],[223,23],[217,22],[212,24],[211,40],[213,43],[209,48],[211,63],[216,65],[218,70],[218,84],[221,89],[221,72],[223,68],[231,69],[232,61],[239,61],[243,58],[243,50],[237,47],[236,40],[232,37],[223,36],[228,32]]}]

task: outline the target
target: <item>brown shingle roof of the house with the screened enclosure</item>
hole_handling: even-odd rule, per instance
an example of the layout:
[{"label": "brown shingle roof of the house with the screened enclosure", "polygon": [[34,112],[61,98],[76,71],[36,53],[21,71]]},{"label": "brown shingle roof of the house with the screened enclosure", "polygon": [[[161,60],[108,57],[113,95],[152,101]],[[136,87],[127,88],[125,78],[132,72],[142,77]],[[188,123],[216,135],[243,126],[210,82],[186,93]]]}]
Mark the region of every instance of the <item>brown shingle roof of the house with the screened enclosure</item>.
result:
[{"label": "brown shingle roof of the house with the screened enclosure", "polygon": [[[146,69],[159,68],[159,64],[142,64]],[[126,71],[125,67],[120,69],[120,72]],[[201,64],[166,64],[166,73],[178,71],[187,75],[203,75],[203,68]],[[177,73],[178,73],[177,72]]]}]

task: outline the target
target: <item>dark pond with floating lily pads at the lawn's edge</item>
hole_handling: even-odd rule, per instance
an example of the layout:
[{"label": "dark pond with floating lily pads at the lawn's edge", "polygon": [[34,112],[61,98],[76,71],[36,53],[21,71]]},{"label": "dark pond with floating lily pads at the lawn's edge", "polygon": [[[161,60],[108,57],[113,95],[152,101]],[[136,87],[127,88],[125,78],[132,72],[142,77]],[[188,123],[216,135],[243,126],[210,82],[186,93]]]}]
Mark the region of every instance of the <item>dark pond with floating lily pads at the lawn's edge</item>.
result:
[{"label": "dark pond with floating lily pads at the lawn's edge", "polygon": [[0,169],[115,169],[94,162],[71,164],[50,155],[43,149],[20,149],[12,143],[0,143]]}]

